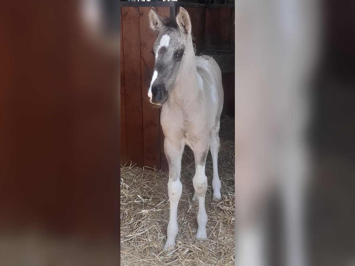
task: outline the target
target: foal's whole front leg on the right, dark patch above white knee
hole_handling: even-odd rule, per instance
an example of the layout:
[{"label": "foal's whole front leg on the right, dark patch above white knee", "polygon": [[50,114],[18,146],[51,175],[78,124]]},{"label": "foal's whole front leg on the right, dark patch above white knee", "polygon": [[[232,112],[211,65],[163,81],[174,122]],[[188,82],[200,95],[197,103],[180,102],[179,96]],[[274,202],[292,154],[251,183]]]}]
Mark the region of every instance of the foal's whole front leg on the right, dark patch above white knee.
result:
[{"label": "foal's whole front leg on the right, dark patch above white knee", "polygon": [[197,194],[198,200],[198,213],[197,213],[197,224],[198,229],[196,233],[196,239],[202,240],[207,239],[207,214],[204,207],[204,199],[207,190],[207,177],[205,173],[206,157],[208,153],[209,143],[204,143],[199,145],[198,148],[193,150],[195,155],[195,176],[192,179],[193,188],[195,188],[195,193]]}]

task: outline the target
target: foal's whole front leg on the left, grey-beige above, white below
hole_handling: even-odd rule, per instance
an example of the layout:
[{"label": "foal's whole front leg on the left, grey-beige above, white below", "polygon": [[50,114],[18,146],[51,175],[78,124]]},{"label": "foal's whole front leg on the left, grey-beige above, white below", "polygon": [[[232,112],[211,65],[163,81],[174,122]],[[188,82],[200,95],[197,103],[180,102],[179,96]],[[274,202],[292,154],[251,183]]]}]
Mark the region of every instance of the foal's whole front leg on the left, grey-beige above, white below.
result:
[{"label": "foal's whole front leg on the left, grey-beige above, white below", "polygon": [[164,140],[164,151],[166,159],[169,164],[169,181],[168,181],[168,195],[170,200],[170,216],[167,228],[168,238],[164,245],[165,251],[170,251],[174,248],[175,237],[178,234],[178,204],[182,192],[182,184],[180,182],[181,172],[181,157],[184,151],[184,147],[179,146]]}]

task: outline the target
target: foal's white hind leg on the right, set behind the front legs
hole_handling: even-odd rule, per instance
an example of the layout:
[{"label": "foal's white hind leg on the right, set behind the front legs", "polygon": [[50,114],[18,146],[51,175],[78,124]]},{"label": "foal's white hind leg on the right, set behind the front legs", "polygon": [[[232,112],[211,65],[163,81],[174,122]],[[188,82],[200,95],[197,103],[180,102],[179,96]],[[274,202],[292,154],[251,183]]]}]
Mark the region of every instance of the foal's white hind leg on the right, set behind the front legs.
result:
[{"label": "foal's white hind leg on the right, set behind the front legs", "polygon": [[213,179],[212,179],[212,188],[213,188],[213,201],[218,202],[222,199],[221,196],[221,182],[219,180],[218,176],[218,166],[217,166],[217,161],[218,161],[218,151],[220,148],[220,142],[219,142],[219,121],[217,124],[216,128],[213,128],[210,132],[210,149],[211,149],[211,155],[212,155],[212,163],[213,163]]}]

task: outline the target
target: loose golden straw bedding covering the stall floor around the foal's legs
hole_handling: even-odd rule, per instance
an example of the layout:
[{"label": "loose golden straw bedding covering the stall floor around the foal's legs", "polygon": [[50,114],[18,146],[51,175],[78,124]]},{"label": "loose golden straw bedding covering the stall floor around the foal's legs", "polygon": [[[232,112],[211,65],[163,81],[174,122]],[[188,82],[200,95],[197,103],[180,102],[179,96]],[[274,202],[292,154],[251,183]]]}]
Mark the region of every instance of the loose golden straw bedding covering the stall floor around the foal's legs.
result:
[{"label": "loose golden straw bedding covering the stall floor around the foal's legs", "polygon": [[182,157],[182,194],[178,207],[179,233],[175,248],[163,252],[169,221],[168,172],[134,165],[121,167],[121,265],[234,265],[234,118],[220,124],[218,172],[222,201],[212,202],[212,158],[208,153],[206,176],[207,237],[197,241],[198,203],[193,196],[195,162],[190,148]]}]

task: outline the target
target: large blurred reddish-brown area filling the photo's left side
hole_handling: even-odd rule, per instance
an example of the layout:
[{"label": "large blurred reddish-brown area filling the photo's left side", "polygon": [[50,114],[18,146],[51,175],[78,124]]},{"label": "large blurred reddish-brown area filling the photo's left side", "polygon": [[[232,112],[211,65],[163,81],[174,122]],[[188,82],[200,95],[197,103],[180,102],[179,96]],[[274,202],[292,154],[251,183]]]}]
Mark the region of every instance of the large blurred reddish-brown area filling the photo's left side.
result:
[{"label": "large blurred reddish-brown area filling the photo's left side", "polygon": [[118,242],[120,58],[79,19],[76,1],[0,4],[1,233]]}]

